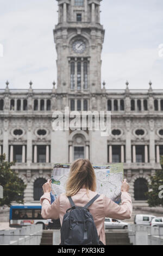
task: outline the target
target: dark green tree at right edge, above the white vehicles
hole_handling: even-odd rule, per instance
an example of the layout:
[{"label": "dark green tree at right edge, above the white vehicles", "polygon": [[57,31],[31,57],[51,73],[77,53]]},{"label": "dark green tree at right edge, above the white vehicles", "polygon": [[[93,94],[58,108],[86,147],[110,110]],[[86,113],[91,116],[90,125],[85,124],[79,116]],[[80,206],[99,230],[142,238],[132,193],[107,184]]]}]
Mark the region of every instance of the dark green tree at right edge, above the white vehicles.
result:
[{"label": "dark green tree at right edge, above the white vehicles", "polygon": [[[161,170],[156,170],[155,175],[151,177],[151,184],[148,185],[149,192],[147,192],[148,205],[150,207],[163,206],[163,198],[159,198],[160,186],[163,186],[163,157],[161,156]],[[163,192],[162,192],[163,195]]]}]

